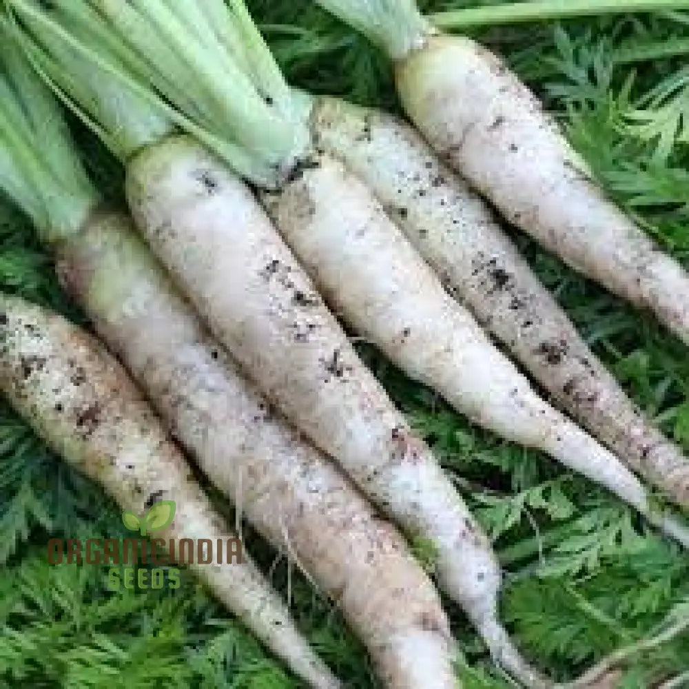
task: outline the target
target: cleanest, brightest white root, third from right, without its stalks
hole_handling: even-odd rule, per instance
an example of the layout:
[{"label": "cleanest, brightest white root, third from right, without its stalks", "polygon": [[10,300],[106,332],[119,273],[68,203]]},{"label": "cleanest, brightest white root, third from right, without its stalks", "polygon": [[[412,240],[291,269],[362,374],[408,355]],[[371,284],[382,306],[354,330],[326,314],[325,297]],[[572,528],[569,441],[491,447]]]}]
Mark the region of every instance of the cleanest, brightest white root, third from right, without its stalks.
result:
[{"label": "cleanest, brightest white root, third from right, without its stalks", "polygon": [[689,546],[689,529],[677,523],[668,532],[666,520],[651,513],[644,486],[615,455],[538,397],[356,176],[321,156],[280,194],[264,198],[333,308],[411,378],[480,426],[605,486]]}]

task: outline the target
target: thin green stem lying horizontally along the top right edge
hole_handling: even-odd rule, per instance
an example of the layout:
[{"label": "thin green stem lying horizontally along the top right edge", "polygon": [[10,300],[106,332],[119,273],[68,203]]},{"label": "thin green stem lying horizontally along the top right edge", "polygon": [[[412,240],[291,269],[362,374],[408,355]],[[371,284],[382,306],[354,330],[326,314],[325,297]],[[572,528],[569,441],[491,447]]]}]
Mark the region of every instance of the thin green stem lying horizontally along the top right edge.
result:
[{"label": "thin green stem lying horizontally along the top right edge", "polygon": [[686,9],[689,9],[689,0],[535,0],[439,12],[433,14],[431,20],[440,28],[464,29],[528,21],[577,19],[600,14]]}]

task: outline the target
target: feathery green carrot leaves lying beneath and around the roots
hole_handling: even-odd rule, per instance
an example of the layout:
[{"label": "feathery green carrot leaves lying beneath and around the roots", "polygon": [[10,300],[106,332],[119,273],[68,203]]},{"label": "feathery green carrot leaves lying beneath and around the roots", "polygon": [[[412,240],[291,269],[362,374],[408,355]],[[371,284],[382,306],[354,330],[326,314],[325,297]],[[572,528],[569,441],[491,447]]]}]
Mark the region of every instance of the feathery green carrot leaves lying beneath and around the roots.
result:
[{"label": "feathery green carrot leaves lying beneath and around the roots", "polygon": [[[477,4],[497,3],[433,1],[424,8]],[[294,84],[398,110],[382,54],[309,0],[249,5]],[[670,132],[672,117],[652,114],[652,132],[669,136],[672,144],[670,154],[659,158],[657,142],[635,136],[639,131],[622,119],[629,101],[681,74],[689,20],[679,14],[607,17],[501,26],[474,35],[511,61],[561,116],[608,192],[689,266],[686,145],[675,141],[676,130]],[[670,56],[642,60],[659,52]],[[689,96],[678,103],[680,114],[689,112]],[[73,124],[90,172],[107,196],[122,203],[121,169]],[[686,347],[650,316],[511,232],[630,395],[689,451]],[[30,223],[6,200],[0,204],[0,284],[85,322],[57,287],[50,256]],[[362,345],[360,351],[493,536],[506,570],[502,616],[541,668],[571,679],[608,652],[653,635],[673,606],[684,602],[689,615],[689,560],[677,546],[547,457],[473,428],[375,349]],[[119,510],[50,455],[6,404],[0,406],[0,453],[0,686],[300,686],[186,573],[173,592],[112,593],[105,568],[48,566],[49,535],[124,536]],[[215,497],[234,519],[231,507]],[[249,525],[245,535],[274,584],[289,595],[300,628],[340,677],[353,688],[378,686],[338,611]],[[414,546],[432,574],[424,544]],[[447,609],[460,641],[457,671],[464,686],[509,686],[460,610],[449,603]],[[657,686],[688,666],[685,635],[635,654],[621,686]]]}]

